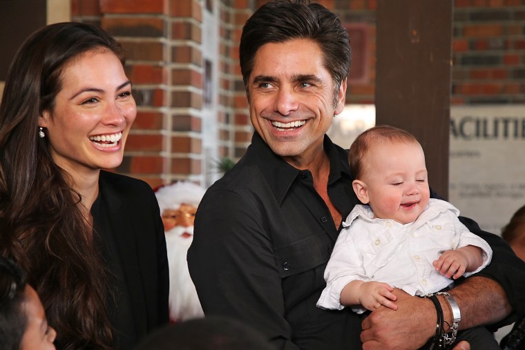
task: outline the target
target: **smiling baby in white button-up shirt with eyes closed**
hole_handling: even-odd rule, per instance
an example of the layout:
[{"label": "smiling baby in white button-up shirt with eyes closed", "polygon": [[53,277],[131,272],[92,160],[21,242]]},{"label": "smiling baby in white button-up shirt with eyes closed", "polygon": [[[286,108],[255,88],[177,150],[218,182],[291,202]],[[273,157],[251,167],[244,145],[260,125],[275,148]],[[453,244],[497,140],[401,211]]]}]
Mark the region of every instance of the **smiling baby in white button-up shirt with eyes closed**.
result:
[{"label": "smiling baby in white button-up shirt with eyes closed", "polygon": [[376,126],[356,138],[350,155],[352,186],[365,205],[343,222],[318,307],[396,310],[394,287],[436,293],[490,262],[492,249],[461,224],[457,208],[430,198],[425,155],[413,135]]}]

